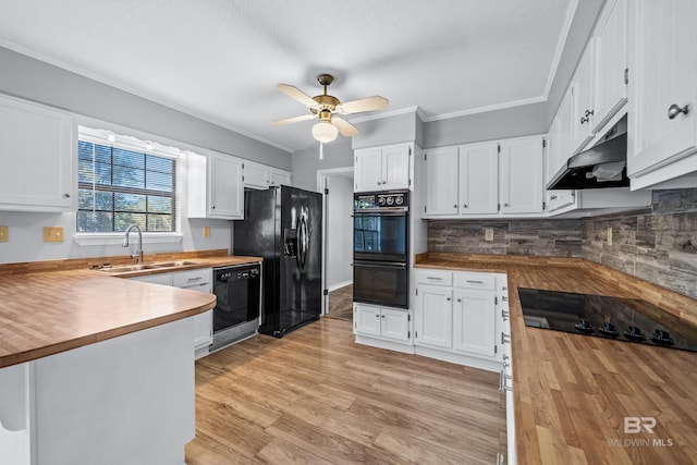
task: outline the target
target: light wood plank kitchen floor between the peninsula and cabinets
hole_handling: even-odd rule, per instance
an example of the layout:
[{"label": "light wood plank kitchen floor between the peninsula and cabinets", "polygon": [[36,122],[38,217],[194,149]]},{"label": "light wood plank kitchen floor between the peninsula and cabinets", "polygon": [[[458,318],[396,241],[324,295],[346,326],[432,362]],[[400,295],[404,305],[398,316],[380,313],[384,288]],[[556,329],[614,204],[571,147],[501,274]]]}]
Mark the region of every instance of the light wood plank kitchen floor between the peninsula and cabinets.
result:
[{"label": "light wood plank kitchen floor between the peninsula and cabinets", "polygon": [[351,327],[322,318],[198,360],[186,463],[496,463],[497,374],[358,345]]}]

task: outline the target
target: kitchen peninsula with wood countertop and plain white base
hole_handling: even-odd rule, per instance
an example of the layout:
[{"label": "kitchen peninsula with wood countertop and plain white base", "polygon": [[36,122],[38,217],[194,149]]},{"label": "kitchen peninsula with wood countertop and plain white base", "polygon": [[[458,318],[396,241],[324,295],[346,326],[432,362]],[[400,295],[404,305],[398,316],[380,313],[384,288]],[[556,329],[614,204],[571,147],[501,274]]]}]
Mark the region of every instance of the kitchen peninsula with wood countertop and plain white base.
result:
[{"label": "kitchen peninsula with wood countertop and plain white base", "polygon": [[183,463],[192,317],[216,297],[84,268],[0,274],[3,461]]}]

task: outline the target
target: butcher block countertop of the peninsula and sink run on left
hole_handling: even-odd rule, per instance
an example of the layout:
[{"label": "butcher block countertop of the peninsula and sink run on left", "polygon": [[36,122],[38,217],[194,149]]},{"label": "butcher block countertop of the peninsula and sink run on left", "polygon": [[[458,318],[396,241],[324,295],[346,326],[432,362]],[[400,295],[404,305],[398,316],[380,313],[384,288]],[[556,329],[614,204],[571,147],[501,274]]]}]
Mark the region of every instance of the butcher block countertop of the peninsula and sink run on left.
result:
[{"label": "butcher block countertop of the peninsula and sink run on left", "polygon": [[[119,273],[122,278],[242,265],[259,257],[227,250],[146,255],[145,262],[191,260],[181,268]],[[133,264],[127,257],[0,265],[0,368],[129,334],[216,306],[216,296],[152,285],[89,269]]]}]

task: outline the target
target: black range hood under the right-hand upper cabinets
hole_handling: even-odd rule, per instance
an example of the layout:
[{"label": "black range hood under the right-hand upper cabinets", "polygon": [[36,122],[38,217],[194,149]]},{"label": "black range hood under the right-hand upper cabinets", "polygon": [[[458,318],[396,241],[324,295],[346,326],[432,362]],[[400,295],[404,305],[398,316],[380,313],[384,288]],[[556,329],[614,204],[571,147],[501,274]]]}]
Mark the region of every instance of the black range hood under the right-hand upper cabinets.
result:
[{"label": "black range hood under the right-hand upper cabinets", "polygon": [[548,191],[626,187],[627,117],[624,115],[598,144],[574,155],[552,180]]}]

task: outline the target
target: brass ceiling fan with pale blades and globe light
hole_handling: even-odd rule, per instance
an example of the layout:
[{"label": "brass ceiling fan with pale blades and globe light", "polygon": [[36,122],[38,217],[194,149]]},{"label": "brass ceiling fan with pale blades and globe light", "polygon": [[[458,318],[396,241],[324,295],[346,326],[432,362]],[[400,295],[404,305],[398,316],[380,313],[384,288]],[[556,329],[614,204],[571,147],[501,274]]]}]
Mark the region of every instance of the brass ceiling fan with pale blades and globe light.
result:
[{"label": "brass ceiling fan with pale blades and globe light", "polygon": [[315,97],[310,97],[289,84],[278,84],[277,87],[283,94],[307,106],[310,114],[278,120],[273,124],[291,124],[319,118],[319,122],[313,126],[313,137],[321,143],[330,143],[337,138],[338,133],[341,133],[344,137],[353,137],[358,134],[358,130],[353,124],[343,118],[339,118],[337,113],[352,114],[362,111],[380,110],[389,103],[387,98],[379,95],[342,103],[337,97],[327,94],[327,86],[333,81],[334,76],[331,74],[318,75],[317,82],[325,87],[325,94]]}]

